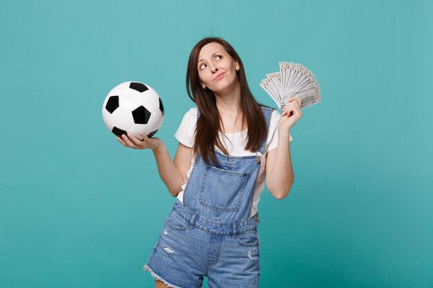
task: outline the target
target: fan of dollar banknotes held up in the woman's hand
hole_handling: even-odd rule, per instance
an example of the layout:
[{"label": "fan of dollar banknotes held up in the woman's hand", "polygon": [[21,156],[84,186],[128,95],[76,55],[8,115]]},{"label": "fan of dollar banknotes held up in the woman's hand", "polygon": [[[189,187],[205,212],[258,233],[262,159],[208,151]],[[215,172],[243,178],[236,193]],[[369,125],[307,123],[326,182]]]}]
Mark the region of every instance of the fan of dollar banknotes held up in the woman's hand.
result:
[{"label": "fan of dollar banknotes held up in the woman's hand", "polygon": [[301,100],[301,108],[320,103],[319,84],[313,73],[302,64],[279,62],[279,72],[266,74],[260,86],[280,109],[293,97]]}]

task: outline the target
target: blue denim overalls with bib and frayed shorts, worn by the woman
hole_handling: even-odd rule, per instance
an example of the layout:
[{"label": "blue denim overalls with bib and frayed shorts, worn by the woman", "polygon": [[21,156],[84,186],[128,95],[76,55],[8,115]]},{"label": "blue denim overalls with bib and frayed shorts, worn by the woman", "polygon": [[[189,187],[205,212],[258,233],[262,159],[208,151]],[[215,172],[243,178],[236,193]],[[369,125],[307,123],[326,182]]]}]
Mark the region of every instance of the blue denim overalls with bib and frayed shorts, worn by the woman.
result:
[{"label": "blue denim overalls with bib and frayed shorts, worn by the woman", "polygon": [[[261,106],[269,131],[272,108]],[[198,111],[197,117],[200,113]],[[259,286],[259,215],[250,218],[261,155],[266,139],[252,156],[215,151],[219,165],[198,153],[183,192],[176,200],[145,265],[168,287]]]}]

